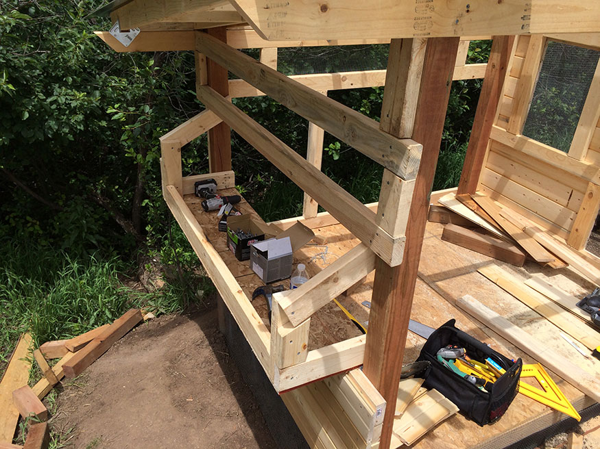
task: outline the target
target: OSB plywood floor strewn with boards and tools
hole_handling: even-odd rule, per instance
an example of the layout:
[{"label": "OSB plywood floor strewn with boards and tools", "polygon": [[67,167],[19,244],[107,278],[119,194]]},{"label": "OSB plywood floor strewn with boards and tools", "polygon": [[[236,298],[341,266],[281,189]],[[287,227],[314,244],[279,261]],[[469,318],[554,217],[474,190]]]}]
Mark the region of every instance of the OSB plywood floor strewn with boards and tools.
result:
[{"label": "OSB plywood floor strewn with boards and tools", "polygon": [[[224,194],[235,194],[235,191],[227,190]],[[200,225],[202,225],[208,239],[211,240],[230,270],[237,277],[237,281],[245,293],[251,296],[254,288],[262,285],[262,283],[256,275],[252,274],[248,261],[239,262],[228,251],[226,233],[217,230],[216,212],[204,212],[200,207],[200,199],[192,195],[186,196],[185,201]],[[237,207],[244,214],[254,214],[256,218],[259,218],[245,201]],[[524,363],[536,363],[531,357],[525,355],[489,329],[482,330],[479,324],[470,320],[453,305],[457,298],[464,294],[470,294],[480,300],[481,303],[525,329],[525,331],[547,342],[561,355],[571,359],[573,363],[580,365],[592,374],[600,375],[600,361],[584,359],[560,337],[560,330],[556,326],[485,279],[477,273],[477,268],[488,264],[496,264],[523,280],[532,276],[544,277],[553,285],[557,285],[566,292],[577,296],[590,292],[593,287],[590,283],[568,268],[561,270],[541,268],[533,262],[527,263],[523,268],[503,264],[490,257],[443,242],[440,239],[442,229],[442,225],[437,223],[428,223],[427,225],[419,265],[419,278],[411,312],[413,320],[437,327],[451,318],[455,318],[460,329],[487,342],[494,349],[514,359],[521,357]],[[316,235],[313,242],[294,254],[294,264],[300,262],[307,264],[310,274],[322,270],[337,257],[358,244],[358,240],[354,239],[349,231],[341,225],[316,228],[313,231]],[[373,274],[370,274],[365,282],[359,285],[349,297],[341,296],[338,298],[363,323],[368,322],[369,309],[362,303],[371,299],[372,281]],[[285,284],[286,281],[282,283]],[[259,312],[268,326],[264,299],[257,298],[255,303],[256,311]],[[356,335],[359,335],[359,331],[354,324],[346,318],[335,304],[330,303],[330,305],[315,313],[311,320],[309,347],[313,349],[326,346]],[[424,339],[409,332],[405,350],[405,363],[414,361],[418,357],[423,343]],[[592,405],[592,400],[586,398],[577,389],[552,373],[551,376],[576,409],[581,410]],[[565,415],[525,396],[518,395],[505,416],[492,426],[481,428],[461,415],[456,415],[430,431],[413,447],[420,449],[440,447],[446,449],[503,448],[564,418],[566,418]]]}]

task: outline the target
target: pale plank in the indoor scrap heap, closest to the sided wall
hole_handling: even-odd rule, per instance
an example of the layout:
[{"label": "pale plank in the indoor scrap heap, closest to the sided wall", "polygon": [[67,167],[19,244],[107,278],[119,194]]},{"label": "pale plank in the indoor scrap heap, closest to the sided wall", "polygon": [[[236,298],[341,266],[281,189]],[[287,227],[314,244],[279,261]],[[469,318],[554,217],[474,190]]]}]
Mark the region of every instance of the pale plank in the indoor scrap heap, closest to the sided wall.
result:
[{"label": "pale plank in the indoor scrap heap, closest to the sided wall", "polygon": [[549,251],[560,257],[560,259],[566,261],[567,264],[571,265],[571,268],[577,270],[577,272],[586,277],[586,279],[596,285],[600,285],[600,270],[587,261],[584,256],[573,250],[571,246],[553,238],[536,225],[533,225],[533,222],[520,216],[515,211],[503,209],[503,216],[507,218],[507,220],[512,220],[514,225],[520,226],[527,235],[530,235],[536,242],[544,246],[544,248],[547,248]]}]

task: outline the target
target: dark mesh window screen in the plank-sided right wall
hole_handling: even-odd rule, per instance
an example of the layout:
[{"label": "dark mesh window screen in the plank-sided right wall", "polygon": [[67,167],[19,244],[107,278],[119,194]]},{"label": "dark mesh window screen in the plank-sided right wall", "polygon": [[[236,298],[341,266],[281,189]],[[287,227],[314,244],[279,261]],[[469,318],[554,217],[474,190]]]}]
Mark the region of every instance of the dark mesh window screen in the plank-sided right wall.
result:
[{"label": "dark mesh window screen in the plank-sided right wall", "polygon": [[600,52],[549,41],[523,135],[568,152]]}]

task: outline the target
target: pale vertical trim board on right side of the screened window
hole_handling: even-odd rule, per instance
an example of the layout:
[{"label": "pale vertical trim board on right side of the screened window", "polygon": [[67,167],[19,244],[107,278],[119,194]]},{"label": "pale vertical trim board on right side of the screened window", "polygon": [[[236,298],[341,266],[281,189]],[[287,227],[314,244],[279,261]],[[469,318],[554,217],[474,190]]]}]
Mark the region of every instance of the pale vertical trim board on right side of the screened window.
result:
[{"label": "pale vertical trim board on right side of the screened window", "polygon": [[571,141],[571,146],[568,150],[568,155],[575,159],[585,159],[592,136],[596,131],[596,124],[600,119],[600,62],[596,66],[590,90],[586,97],[584,109],[581,110],[579,122],[575,129],[575,135]]}]

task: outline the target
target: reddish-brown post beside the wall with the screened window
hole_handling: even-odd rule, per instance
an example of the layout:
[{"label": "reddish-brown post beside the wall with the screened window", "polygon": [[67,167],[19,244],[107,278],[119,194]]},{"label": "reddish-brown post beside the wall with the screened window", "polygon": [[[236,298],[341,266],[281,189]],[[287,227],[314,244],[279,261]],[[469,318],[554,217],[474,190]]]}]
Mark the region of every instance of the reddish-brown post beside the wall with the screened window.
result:
[{"label": "reddish-brown post beside the wall with the screened window", "polygon": [[514,36],[494,36],[457,194],[472,194],[477,190],[514,42]]}]

